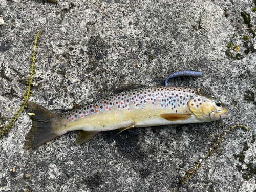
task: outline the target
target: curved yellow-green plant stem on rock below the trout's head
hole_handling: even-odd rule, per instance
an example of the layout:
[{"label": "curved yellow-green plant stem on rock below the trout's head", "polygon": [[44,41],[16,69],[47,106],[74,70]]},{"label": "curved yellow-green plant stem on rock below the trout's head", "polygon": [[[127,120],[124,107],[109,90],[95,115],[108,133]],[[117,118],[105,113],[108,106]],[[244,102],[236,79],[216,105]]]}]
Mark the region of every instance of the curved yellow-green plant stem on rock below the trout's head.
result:
[{"label": "curved yellow-green plant stem on rock below the trout's head", "polygon": [[209,149],[209,151],[207,152],[207,154],[205,155],[204,158],[201,158],[197,163],[196,163],[196,168],[190,168],[187,172],[187,175],[185,175],[184,177],[181,178],[181,183],[185,184],[187,182],[187,180],[201,167],[202,163],[205,161],[205,159],[208,159],[212,152],[214,150],[216,150],[216,148],[219,146],[219,144],[223,141],[223,139],[226,137],[226,135],[230,134],[232,130],[234,130],[236,127],[242,127],[244,129],[246,129],[247,131],[249,131],[249,129],[246,126],[243,125],[234,125],[232,126],[226,133],[224,133],[222,136],[220,136],[220,138],[216,141],[216,143]]}]

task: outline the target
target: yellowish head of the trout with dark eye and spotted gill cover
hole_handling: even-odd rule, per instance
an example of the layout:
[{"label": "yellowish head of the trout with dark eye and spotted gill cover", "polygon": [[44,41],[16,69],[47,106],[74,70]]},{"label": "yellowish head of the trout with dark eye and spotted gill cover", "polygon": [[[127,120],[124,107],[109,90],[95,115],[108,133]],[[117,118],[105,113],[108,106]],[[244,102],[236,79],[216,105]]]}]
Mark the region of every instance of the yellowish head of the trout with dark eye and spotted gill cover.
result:
[{"label": "yellowish head of the trout with dark eye and spotted gill cover", "polygon": [[203,121],[216,121],[227,117],[226,106],[214,97],[204,93],[194,94],[187,103],[189,111],[197,119]]}]

